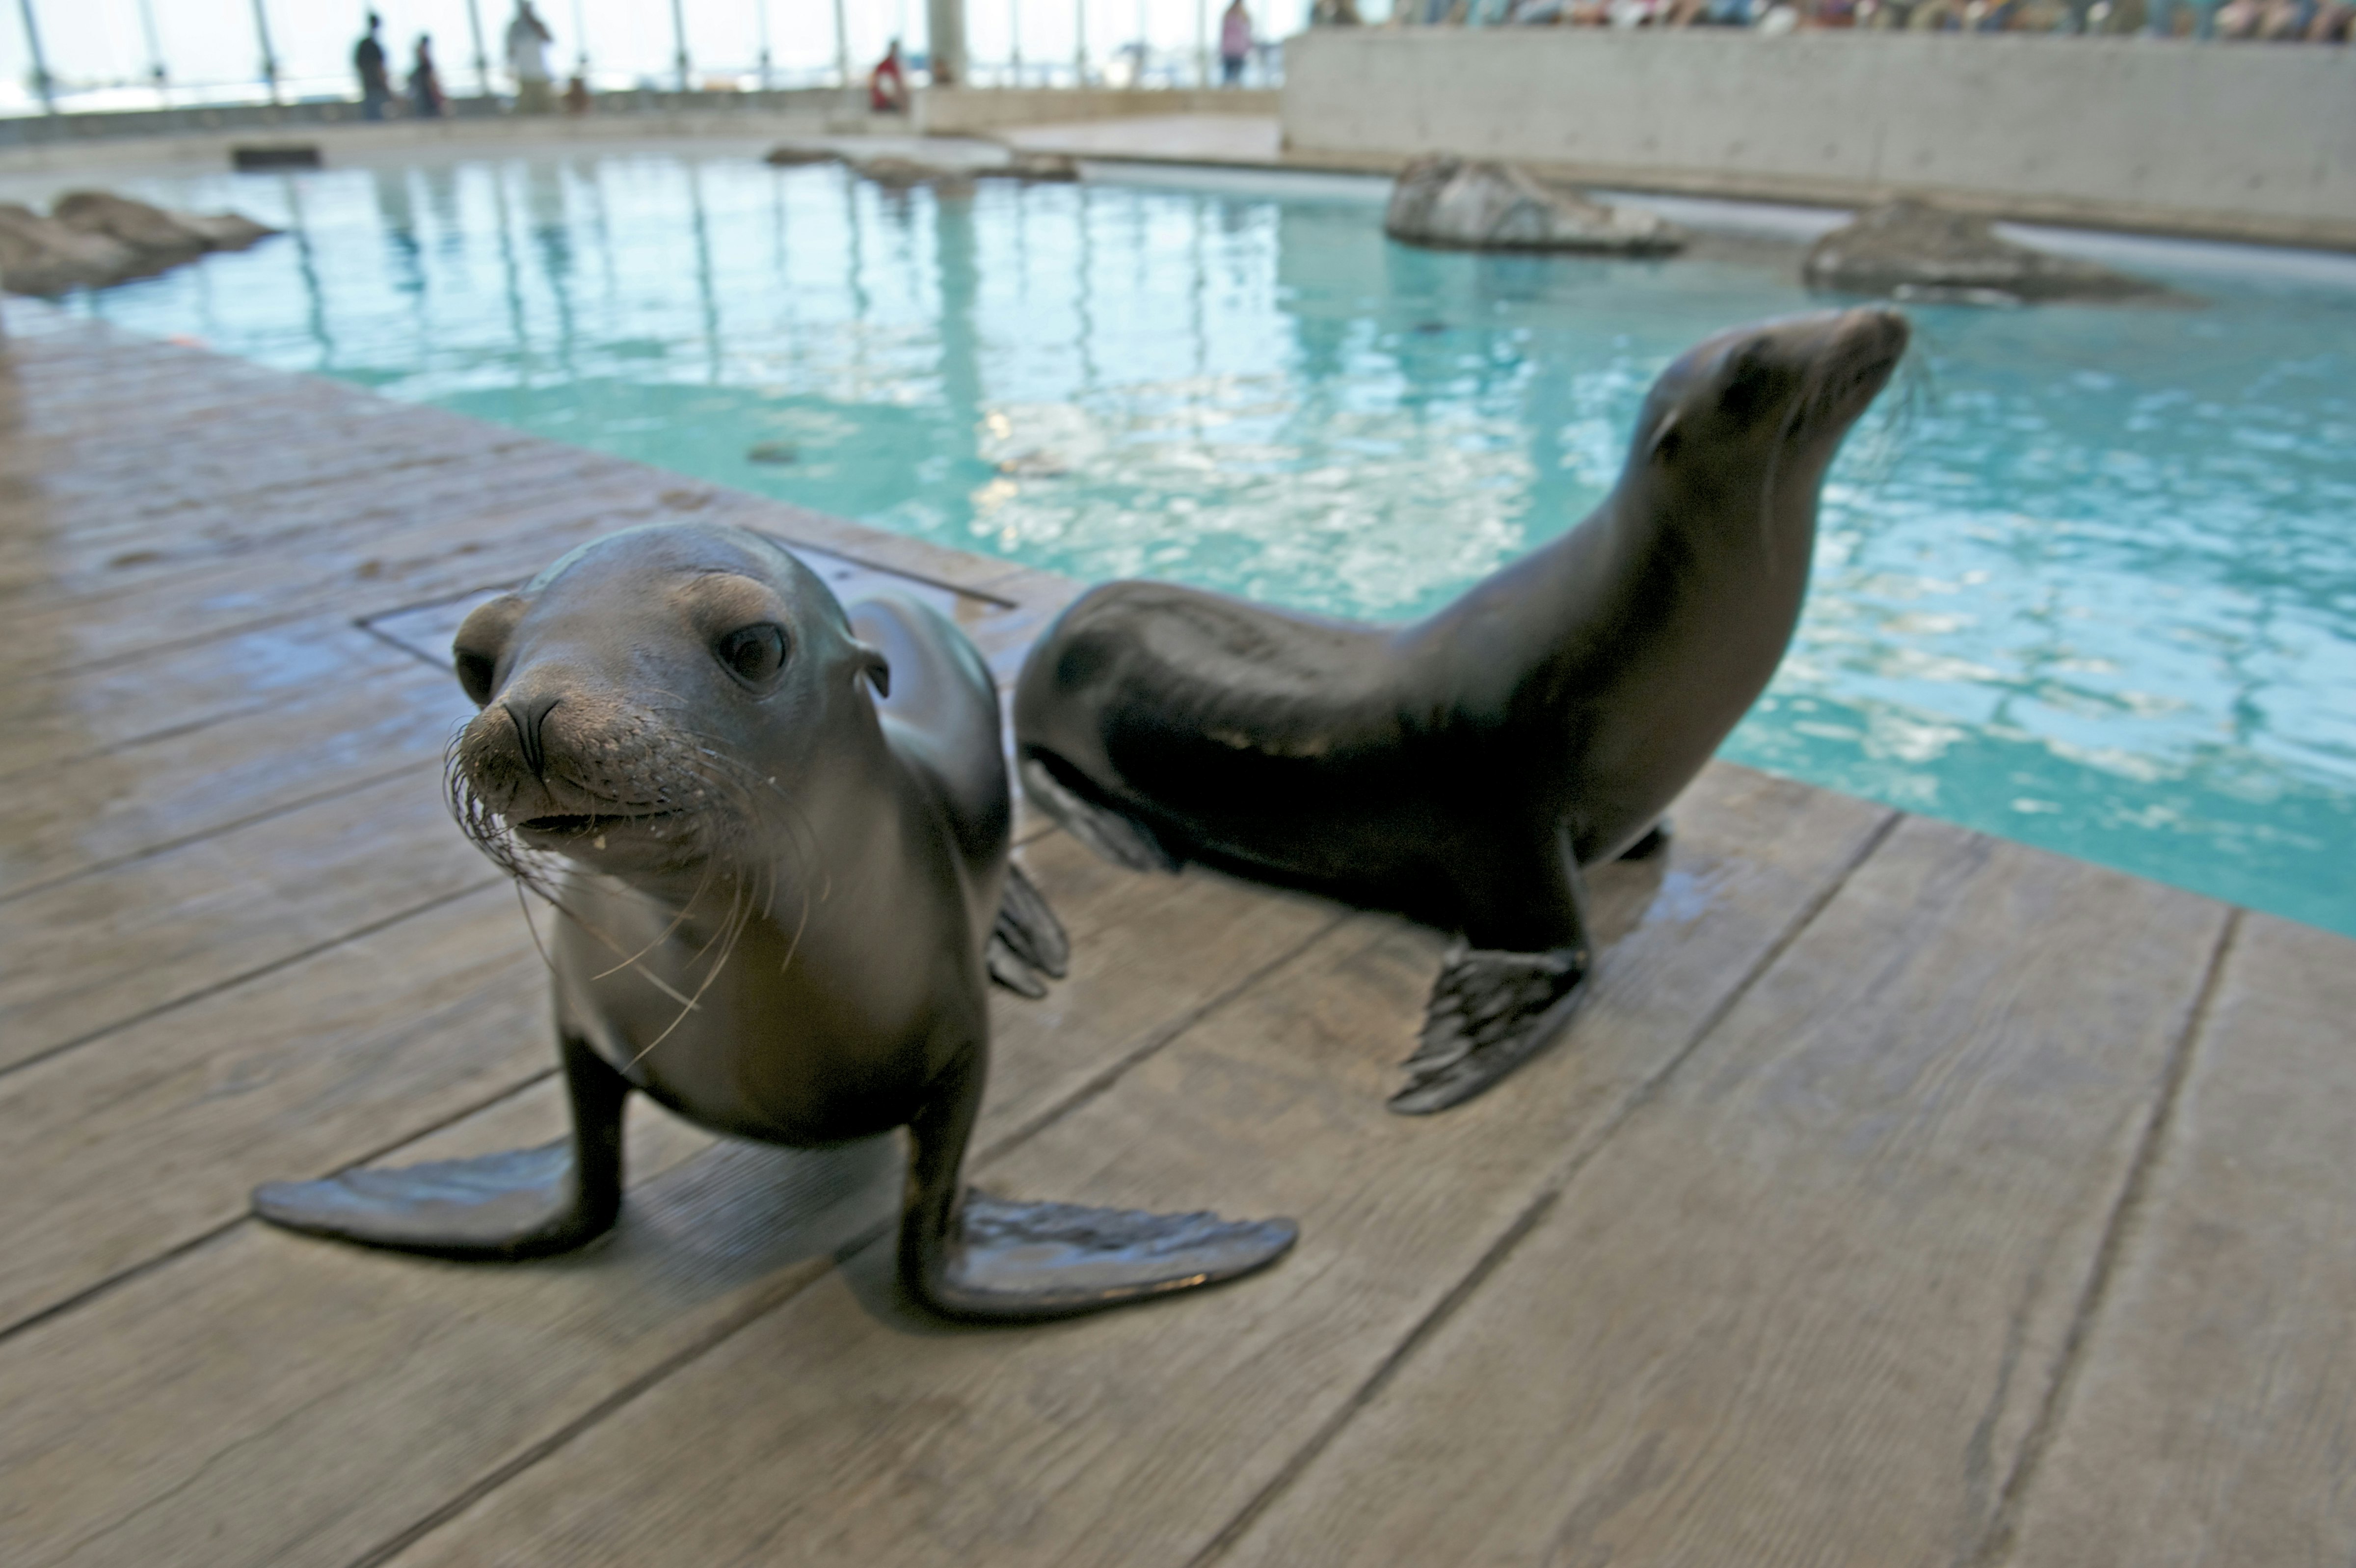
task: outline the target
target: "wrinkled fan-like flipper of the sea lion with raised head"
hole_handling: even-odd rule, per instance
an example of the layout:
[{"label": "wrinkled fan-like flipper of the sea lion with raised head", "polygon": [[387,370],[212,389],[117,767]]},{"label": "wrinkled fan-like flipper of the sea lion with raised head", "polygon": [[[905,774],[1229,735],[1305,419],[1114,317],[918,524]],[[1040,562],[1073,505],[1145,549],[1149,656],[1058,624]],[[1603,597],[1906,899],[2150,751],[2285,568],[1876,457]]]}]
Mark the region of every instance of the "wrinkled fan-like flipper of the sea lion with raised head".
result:
[{"label": "wrinkled fan-like flipper of the sea lion with raised head", "polygon": [[1430,1115],[1472,1099],[1536,1056],[1586,995],[1588,955],[1458,948],[1432,981],[1423,1040],[1407,1059],[1399,1115]]}]

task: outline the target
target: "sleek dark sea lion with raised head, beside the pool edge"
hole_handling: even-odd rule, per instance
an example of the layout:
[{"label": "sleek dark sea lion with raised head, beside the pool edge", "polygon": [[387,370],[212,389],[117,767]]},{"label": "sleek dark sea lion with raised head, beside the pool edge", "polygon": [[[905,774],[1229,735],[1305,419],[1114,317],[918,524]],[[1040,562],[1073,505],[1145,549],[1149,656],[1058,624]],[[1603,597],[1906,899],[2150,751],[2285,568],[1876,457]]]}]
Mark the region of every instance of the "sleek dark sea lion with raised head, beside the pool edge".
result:
[{"label": "sleek dark sea lion with raised head, beside the pool edge", "polygon": [[1140,870],[1199,861],[1463,934],[1390,1106],[1470,1099],[1583,993],[1581,868],[1661,849],[1661,811],[1781,663],[1824,469],[1904,351],[1885,309],[1703,342],[1583,523],[1414,625],[1098,587],[1023,665],[1023,788]]}]

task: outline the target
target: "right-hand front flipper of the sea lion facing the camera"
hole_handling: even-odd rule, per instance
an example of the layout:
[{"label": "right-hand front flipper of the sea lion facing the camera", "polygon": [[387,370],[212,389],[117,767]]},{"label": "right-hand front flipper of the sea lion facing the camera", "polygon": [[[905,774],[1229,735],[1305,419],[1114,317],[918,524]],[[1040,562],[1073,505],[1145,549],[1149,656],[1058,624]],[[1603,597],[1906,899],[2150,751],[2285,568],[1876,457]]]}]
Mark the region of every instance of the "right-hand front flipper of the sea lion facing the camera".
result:
[{"label": "right-hand front flipper of the sea lion facing the camera", "polygon": [[1291,1250],[1291,1219],[1147,1214],[1074,1203],[1008,1203],[964,1188],[982,1101],[980,1052],[909,1125],[900,1278],[924,1306],[975,1323],[1037,1323],[1216,1285]]}]

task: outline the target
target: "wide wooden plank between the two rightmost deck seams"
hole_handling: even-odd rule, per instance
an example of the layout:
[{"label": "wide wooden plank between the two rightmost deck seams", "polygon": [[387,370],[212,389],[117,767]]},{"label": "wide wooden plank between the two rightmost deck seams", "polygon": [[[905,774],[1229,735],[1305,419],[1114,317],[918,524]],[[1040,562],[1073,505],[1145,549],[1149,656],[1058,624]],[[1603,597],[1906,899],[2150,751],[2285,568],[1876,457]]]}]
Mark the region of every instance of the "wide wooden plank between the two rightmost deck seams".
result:
[{"label": "wide wooden plank between the two rightmost deck seams", "polygon": [[1225,1561],[1974,1561],[2224,922],[1906,821]]}]

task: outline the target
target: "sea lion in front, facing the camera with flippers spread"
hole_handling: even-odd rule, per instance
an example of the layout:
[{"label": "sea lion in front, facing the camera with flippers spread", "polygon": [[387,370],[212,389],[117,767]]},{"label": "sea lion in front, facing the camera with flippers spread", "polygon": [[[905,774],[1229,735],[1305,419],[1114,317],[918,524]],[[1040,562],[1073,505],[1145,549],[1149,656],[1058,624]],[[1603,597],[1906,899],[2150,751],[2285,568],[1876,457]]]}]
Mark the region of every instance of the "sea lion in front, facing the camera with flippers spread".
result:
[{"label": "sea lion in front, facing the camera with flippers spread", "polygon": [[516,1259],[622,1203],[631,1089],[714,1132],[825,1146],[909,1129],[900,1276],[952,1318],[1058,1318],[1249,1273],[1284,1219],[1004,1203],[961,1179],[985,979],[1037,990],[1063,931],[1006,858],[999,705],[912,599],[848,615],[775,542],[631,528],[459,627],[481,712],[459,821],[563,917],[549,957],[573,1137],[271,1184],[254,1212],[375,1247]]}]

